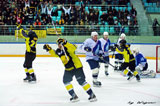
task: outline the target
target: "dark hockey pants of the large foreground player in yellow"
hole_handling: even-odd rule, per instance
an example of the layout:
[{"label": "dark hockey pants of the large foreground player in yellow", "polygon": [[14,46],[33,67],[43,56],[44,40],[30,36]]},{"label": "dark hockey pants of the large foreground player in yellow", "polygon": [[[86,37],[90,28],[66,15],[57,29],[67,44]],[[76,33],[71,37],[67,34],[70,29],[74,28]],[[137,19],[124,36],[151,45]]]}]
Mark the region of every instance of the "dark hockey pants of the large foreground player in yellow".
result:
[{"label": "dark hockey pants of the large foreground player in yellow", "polygon": [[82,68],[73,69],[71,71],[65,70],[64,75],[63,75],[63,83],[67,84],[71,82],[73,80],[73,76],[76,77],[76,80],[78,81],[80,85],[83,85],[83,83],[85,82],[85,75],[84,75]]}]

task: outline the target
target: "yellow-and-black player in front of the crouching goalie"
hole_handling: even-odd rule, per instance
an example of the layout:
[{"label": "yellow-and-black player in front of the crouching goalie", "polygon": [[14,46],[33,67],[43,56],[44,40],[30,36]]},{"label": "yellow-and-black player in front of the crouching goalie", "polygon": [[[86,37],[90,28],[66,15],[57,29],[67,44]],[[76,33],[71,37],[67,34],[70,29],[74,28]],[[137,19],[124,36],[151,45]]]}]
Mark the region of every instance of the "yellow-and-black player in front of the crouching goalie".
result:
[{"label": "yellow-and-black player in front of the crouching goalie", "polygon": [[[124,62],[120,66],[120,70],[123,70],[123,73],[129,76],[127,80],[130,80],[133,76],[135,76],[137,81],[140,81],[138,71],[135,70],[135,58],[130,50],[130,47],[126,45],[126,40],[121,40],[120,46],[116,44],[115,47],[115,50],[123,55]],[[129,70],[127,68],[129,68]]]}]

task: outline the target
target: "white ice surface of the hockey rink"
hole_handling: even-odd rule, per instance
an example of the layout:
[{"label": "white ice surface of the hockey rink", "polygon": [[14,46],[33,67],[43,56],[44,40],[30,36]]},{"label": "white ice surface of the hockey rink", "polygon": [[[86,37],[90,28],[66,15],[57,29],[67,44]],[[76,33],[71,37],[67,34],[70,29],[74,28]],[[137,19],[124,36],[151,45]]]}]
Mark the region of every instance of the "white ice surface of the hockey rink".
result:
[{"label": "white ice surface of the hockey rink", "polygon": [[[86,81],[92,86],[91,70],[85,58],[82,57],[81,61]],[[89,102],[89,96],[73,78],[72,84],[80,101],[71,103],[62,82],[64,67],[59,58],[35,59],[36,84],[23,82],[23,62],[24,57],[0,57],[0,106],[160,106],[160,78],[127,81],[112,67],[106,77],[102,64],[99,74],[102,87],[92,86],[98,101]],[[155,60],[148,60],[148,63],[149,69],[155,70]]]}]

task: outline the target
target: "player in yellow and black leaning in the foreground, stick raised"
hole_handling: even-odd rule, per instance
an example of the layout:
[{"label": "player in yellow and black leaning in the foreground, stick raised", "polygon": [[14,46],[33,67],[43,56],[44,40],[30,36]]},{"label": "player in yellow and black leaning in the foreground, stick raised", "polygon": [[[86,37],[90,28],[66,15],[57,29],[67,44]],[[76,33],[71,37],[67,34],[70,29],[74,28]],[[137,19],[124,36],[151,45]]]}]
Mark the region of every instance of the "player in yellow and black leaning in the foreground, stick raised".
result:
[{"label": "player in yellow and black leaning in the foreground, stick raised", "polygon": [[52,56],[58,56],[61,59],[65,67],[63,83],[68,93],[71,95],[70,101],[76,102],[79,100],[78,96],[74,92],[73,85],[71,84],[73,76],[75,76],[78,83],[89,95],[88,100],[91,102],[96,101],[96,96],[93,93],[90,84],[85,80],[82,63],[78,56],[75,54],[75,50],[77,49],[76,45],[73,45],[67,42],[65,39],[61,38],[57,40],[57,43],[58,48],[56,50],[52,49],[48,44],[45,44],[43,49],[49,52]]}]

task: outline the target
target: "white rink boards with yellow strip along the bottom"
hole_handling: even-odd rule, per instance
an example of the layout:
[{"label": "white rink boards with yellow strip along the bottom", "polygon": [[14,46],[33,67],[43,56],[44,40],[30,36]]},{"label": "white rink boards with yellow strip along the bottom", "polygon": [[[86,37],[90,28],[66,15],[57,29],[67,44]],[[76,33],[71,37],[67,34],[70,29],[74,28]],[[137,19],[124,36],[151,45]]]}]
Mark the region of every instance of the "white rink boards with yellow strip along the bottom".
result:
[{"label": "white rink boards with yellow strip along the bottom", "polygon": [[[37,44],[37,56],[48,57],[50,56],[45,50],[43,50],[44,44]],[[57,48],[56,44],[50,44],[53,49]],[[78,48],[81,44],[77,44]],[[21,57],[24,56],[26,45],[22,44],[0,44],[0,57]],[[137,47],[141,53],[147,58],[155,59],[156,57],[156,44],[132,44],[131,49]],[[84,51],[77,49],[79,56],[85,56]]]}]

